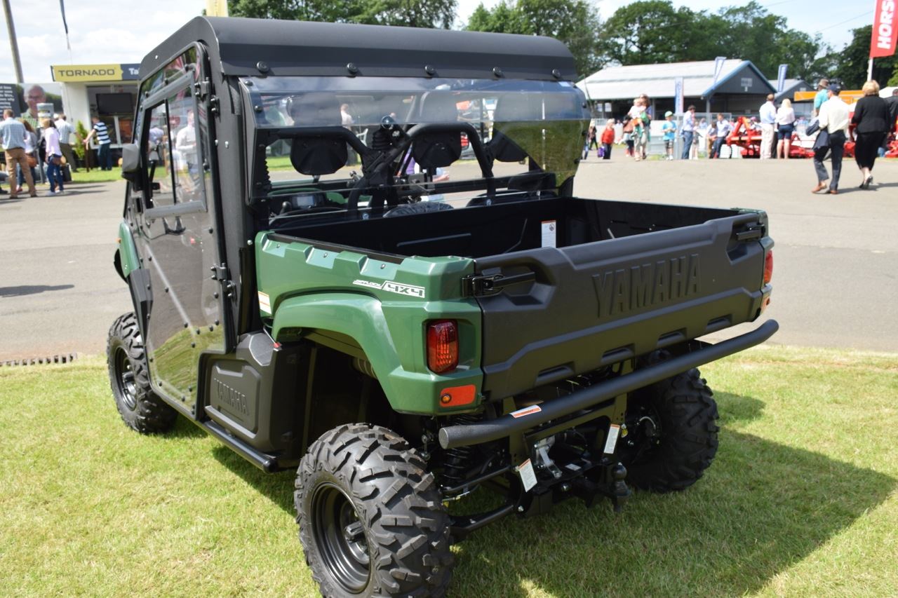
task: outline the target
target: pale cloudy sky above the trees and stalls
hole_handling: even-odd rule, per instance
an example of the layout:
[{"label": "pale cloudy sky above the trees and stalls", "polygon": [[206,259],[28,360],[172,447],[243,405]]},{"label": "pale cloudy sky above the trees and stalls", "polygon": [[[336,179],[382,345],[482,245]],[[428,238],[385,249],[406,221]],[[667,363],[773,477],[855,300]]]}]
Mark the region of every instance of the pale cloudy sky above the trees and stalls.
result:
[{"label": "pale cloudy sky above the trees and stalls", "polygon": [[[26,83],[51,81],[50,65],[139,63],[150,49],[206,6],[205,0],[67,0],[66,20],[72,46],[69,53],[57,0],[9,2]],[[483,4],[489,8],[497,2],[484,0]],[[716,12],[723,6],[746,2],[674,0],[674,5]],[[480,0],[458,0],[455,27],[467,22],[478,4]],[[625,0],[595,0],[602,19],[610,17],[624,4],[629,3]],[[851,29],[873,22],[875,1],[862,0],[854,4],[844,0],[762,0],[760,4],[771,13],[787,17],[790,28],[811,34],[819,31],[832,46],[842,48],[851,39]],[[0,83],[13,83],[15,71],[5,15],[2,20]]]}]

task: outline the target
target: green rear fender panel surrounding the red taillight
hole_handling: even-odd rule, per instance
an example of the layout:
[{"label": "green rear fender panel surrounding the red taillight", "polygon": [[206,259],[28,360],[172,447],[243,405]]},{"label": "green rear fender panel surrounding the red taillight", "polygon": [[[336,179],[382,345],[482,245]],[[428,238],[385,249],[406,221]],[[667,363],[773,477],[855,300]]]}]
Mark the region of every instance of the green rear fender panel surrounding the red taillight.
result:
[{"label": "green rear fender panel surrounding the red taillight", "polygon": [[[453,318],[460,327],[460,367],[437,375],[427,369],[425,325],[428,320]],[[402,413],[440,415],[470,410],[480,404],[480,312],[467,303],[382,303],[353,293],[297,295],[279,303],[272,336],[277,341],[321,330],[354,339],[365,352],[392,409]],[[473,384],[474,403],[460,408],[440,406],[447,389]]]}]

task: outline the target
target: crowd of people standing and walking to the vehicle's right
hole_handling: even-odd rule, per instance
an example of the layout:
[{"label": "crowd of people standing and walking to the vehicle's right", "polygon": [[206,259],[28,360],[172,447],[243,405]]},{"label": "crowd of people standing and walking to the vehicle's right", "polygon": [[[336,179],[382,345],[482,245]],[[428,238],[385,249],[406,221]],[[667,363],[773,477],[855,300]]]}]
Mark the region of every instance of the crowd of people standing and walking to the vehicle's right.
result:
[{"label": "crowd of people standing and walking to the vehicle's right", "polygon": [[[759,157],[786,159],[792,153],[792,140],[798,127],[806,128],[806,135],[819,130],[814,140],[814,169],[817,186],[814,193],[826,190],[835,195],[839,189],[841,161],[844,145],[854,142],[855,161],[861,174],[860,189],[869,189],[873,183],[873,165],[876,157],[885,154],[890,134],[896,130],[898,121],[898,89],[892,97],[879,97],[879,84],[868,81],[864,84],[864,97],[850,108],[841,101],[841,86],[821,79],[818,92],[814,96],[812,119],[798,117],[792,101],[784,99],[779,106],[770,93],[762,104],[757,118],[740,117],[734,121],[718,113],[708,122],[696,116],[695,106],[689,106],[679,126],[674,121],[674,113],[665,112],[661,124],[664,141],[664,160],[674,160],[674,146],[677,135],[682,137],[681,160],[696,160],[700,154],[700,139],[705,139],[705,154],[710,159],[719,158],[728,137],[737,127],[744,128],[745,135],[760,135]],[[623,145],[624,155],[636,161],[647,158],[647,147],[651,138],[651,103],[646,94],[633,100],[633,105],[622,119],[608,119],[604,127],[592,124],[589,127],[583,149],[583,159],[595,150],[596,157],[611,159],[612,146]],[[851,112],[853,110],[853,113]],[[600,130],[601,129],[601,130]],[[736,131],[738,133],[738,131]],[[830,176],[823,161],[832,161]]]}]

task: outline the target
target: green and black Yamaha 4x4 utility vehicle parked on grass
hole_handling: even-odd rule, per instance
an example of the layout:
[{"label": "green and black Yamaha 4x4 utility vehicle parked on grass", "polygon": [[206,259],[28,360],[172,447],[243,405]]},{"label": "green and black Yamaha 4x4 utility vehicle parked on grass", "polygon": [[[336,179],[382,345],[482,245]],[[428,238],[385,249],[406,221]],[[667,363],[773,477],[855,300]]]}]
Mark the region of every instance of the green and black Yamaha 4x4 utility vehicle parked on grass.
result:
[{"label": "green and black Yamaha 4x4 utility vehicle parked on grass", "polygon": [[[297,470],[321,594],[442,595],[487,523],[709,466],[695,368],[777,324],[697,339],[770,302],[767,215],[573,197],[589,115],[559,41],[197,18],[140,73],[119,412]],[[476,488],[500,506],[450,514]]]}]

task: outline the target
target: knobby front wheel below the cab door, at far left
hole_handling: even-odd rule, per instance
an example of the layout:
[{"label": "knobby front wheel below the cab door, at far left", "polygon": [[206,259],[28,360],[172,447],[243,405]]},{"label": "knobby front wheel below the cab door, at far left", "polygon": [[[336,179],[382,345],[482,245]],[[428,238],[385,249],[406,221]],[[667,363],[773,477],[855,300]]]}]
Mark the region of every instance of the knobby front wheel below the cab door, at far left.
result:
[{"label": "knobby front wheel below the cab door, at far left", "polygon": [[171,429],[178,414],[150,388],[144,341],[140,338],[134,312],[120,316],[112,324],[106,345],[106,361],[110,370],[112,396],[128,427],[141,434]]}]

